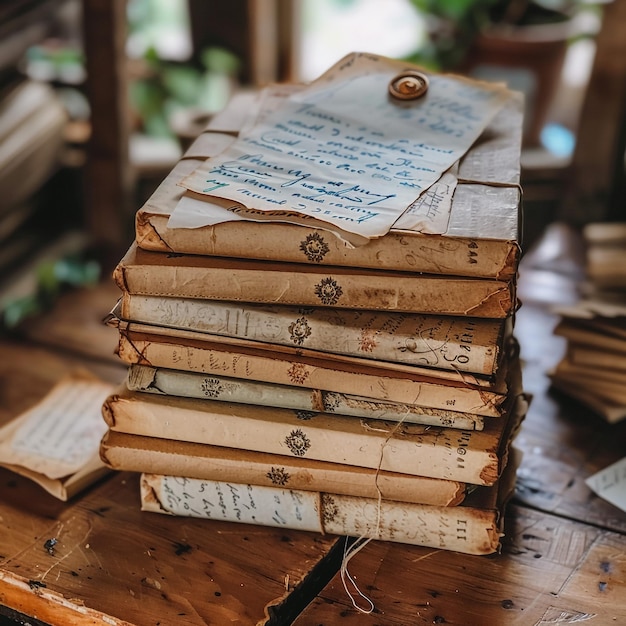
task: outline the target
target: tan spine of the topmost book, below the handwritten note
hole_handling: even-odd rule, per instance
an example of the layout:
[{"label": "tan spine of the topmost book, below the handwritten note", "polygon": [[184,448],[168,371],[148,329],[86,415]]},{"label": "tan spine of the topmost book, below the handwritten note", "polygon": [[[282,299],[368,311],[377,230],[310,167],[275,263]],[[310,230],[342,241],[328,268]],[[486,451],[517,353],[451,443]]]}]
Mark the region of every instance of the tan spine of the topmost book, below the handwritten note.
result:
[{"label": "tan spine of the topmost book, below the handwritten note", "polygon": [[511,241],[423,236],[391,231],[366,246],[349,249],[326,231],[278,222],[224,222],[201,228],[168,228],[169,215],[139,211],[138,245],[154,252],[276,260],[316,266],[338,265],[392,271],[510,280],[519,262]]}]

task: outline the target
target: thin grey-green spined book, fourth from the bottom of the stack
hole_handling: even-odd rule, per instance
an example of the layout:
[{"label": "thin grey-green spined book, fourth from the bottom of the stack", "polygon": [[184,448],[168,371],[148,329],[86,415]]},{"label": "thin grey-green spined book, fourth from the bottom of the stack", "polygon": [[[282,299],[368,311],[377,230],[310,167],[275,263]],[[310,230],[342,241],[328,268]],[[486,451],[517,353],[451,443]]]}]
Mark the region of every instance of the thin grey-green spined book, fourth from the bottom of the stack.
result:
[{"label": "thin grey-green spined book, fourth from the bottom of the stack", "polygon": [[275,406],[301,411],[305,415],[313,411],[465,430],[482,430],[484,420],[488,419],[474,413],[431,409],[417,404],[385,402],[322,389],[196,374],[147,365],[131,365],[126,384],[131,391]]}]

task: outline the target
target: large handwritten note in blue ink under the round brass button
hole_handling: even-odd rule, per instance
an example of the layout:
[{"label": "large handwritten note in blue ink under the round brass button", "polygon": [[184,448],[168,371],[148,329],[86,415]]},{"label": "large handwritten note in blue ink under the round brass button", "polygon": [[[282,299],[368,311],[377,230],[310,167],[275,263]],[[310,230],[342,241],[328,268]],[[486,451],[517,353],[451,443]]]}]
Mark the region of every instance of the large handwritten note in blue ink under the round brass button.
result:
[{"label": "large handwritten note in blue ink under the round brass button", "polygon": [[283,98],[183,186],[280,219],[384,235],[509,97],[501,87],[433,75],[424,97],[393,101],[387,86],[404,69],[383,57],[346,57]]}]

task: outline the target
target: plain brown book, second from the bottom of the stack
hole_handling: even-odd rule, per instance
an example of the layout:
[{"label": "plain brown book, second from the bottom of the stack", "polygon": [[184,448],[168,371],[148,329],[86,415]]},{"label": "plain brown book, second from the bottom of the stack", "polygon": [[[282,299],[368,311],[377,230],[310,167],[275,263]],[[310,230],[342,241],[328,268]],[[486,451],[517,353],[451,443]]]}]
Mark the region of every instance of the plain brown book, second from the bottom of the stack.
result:
[{"label": "plain brown book, second from the bottom of the stack", "polygon": [[265,452],[108,431],[100,456],[111,469],[170,474],[266,487],[330,491],[362,498],[456,506],[468,485],[458,481],[328,463]]}]

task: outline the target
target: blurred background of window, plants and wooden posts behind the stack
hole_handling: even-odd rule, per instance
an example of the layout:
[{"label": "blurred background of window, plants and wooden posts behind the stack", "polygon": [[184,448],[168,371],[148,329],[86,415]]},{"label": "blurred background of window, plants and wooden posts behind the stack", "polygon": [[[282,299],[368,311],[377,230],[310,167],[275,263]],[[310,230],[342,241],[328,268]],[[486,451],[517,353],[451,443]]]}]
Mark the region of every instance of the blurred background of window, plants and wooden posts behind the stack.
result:
[{"label": "blurred background of window, plants and wooden posts behind the stack", "polygon": [[[526,96],[524,246],[626,220],[626,0],[4,0],[0,306],[98,280],[134,212],[238,90],[352,51]],[[38,293],[37,298],[32,294]]]}]

